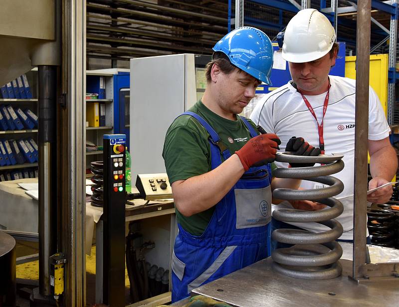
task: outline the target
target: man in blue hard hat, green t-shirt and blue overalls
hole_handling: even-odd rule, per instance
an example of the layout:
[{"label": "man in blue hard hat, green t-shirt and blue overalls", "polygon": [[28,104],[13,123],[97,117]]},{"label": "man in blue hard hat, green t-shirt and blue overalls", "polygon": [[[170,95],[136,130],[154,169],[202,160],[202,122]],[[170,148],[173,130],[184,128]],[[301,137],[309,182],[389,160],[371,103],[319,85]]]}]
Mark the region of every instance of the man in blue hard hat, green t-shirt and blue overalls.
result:
[{"label": "man in blue hard hat, green t-shirt and blue overalls", "polygon": [[[206,65],[203,97],[167,131],[163,157],[179,234],[172,258],[172,301],[269,255],[271,191],[300,182],[271,177],[280,140],[259,135],[237,114],[263,81],[270,84],[270,39],[253,27],[225,35]],[[303,139],[297,154],[320,150]]]}]

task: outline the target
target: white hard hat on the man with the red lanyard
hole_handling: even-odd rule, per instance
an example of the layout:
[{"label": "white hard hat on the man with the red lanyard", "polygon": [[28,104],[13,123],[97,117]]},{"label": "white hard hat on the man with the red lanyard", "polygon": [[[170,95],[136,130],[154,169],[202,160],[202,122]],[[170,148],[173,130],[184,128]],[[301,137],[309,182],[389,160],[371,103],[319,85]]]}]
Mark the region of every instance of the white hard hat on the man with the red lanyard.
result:
[{"label": "white hard hat on the man with the red lanyard", "polygon": [[302,9],[288,22],[281,55],[293,63],[314,61],[326,55],[334,41],[330,20],[317,9]]}]

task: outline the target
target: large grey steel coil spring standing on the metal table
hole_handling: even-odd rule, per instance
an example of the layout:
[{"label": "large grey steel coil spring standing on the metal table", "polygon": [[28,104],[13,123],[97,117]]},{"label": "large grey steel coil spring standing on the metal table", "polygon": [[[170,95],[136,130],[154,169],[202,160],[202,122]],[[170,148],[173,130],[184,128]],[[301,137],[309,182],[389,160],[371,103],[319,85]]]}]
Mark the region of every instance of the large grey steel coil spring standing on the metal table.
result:
[{"label": "large grey steel coil spring standing on the metal table", "polygon": [[316,222],[330,228],[325,232],[312,233],[307,230],[276,229],[272,239],[293,245],[272,252],[273,267],[283,275],[312,280],[326,280],[342,274],[338,260],[342,248],[335,241],[342,233],[342,225],[334,220],[344,211],[342,203],[333,198],[344,190],[339,179],[329,176],[344,168],[342,155],[319,155],[317,157],[294,156],[289,152],[277,153],[276,161],[288,163],[320,163],[320,166],[278,168],[273,175],[277,178],[305,179],[327,185],[313,190],[276,189],[273,198],[281,200],[312,200],[327,205],[319,211],[297,209],[276,209],[273,218],[282,222]]}]

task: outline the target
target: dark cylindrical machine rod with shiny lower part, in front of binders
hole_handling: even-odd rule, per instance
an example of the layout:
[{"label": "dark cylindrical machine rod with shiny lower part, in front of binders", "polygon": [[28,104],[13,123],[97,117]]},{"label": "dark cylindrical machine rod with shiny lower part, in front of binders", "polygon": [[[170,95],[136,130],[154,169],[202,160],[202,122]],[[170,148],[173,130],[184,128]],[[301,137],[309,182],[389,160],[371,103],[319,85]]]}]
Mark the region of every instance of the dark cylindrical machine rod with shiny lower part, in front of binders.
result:
[{"label": "dark cylindrical machine rod with shiny lower part, in front of binders", "polygon": [[50,293],[50,256],[57,251],[57,66],[38,66],[39,289]]}]

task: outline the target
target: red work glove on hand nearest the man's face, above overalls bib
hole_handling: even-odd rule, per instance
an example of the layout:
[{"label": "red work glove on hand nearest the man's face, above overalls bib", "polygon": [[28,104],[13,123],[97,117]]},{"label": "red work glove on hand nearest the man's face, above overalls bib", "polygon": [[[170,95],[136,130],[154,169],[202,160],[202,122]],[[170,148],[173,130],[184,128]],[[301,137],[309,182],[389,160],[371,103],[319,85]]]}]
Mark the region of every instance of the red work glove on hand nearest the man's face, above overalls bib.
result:
[{"label": "red work glove on hand nearest the man's face, above overalls bib", "polygon": [[280,139],[273,133],[261,134],[251,138],[240,150],[235,153],[240,158],[244,170],[247,171],[257,162],[270,163],[276,159]]}]

